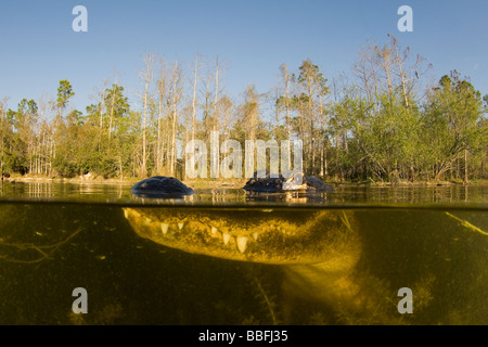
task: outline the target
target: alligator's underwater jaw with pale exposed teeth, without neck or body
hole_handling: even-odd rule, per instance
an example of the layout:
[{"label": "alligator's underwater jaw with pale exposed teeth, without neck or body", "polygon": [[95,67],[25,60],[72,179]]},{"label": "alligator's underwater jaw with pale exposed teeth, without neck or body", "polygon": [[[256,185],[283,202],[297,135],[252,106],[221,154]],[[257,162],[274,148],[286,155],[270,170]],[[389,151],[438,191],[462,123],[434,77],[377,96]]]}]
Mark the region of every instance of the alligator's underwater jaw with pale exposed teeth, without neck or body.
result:
[{"label": "alligator's underwater jaw with pale exposed teeth, without neck or body", "polygon": [[[337,211],[306,216],[269,209],[124,208],[142,237],[188,253],[265,264],[317,264],[337,254],[351,235]],[[344,250],[339,250],[344,252]]]}]

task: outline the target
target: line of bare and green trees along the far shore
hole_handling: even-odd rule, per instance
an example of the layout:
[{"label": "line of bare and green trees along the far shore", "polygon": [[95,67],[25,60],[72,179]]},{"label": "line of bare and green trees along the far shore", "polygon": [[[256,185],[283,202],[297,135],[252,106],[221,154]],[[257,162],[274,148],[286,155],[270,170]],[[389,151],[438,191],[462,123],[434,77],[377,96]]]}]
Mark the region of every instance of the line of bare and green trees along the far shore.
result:
[{"label": "line of bare and green trees along the far shore", "polygon": [[[155,54],[143,60],[131,94],[106,82],[85,112],[61,80],[55,101],[0,103],[2,176],[185,178],[185,143],[300,139],[304,169],[335,181],[487,178],[488,95],[452,70],[428,82],[429,66],[389,36],[364,47],[350,75],[326,78],[306,60],[279,67],[277,87],[241,101],[221,87],[218,60],[196,56],[187,73]],[[131,106],[132,104],[132,106]]]}]

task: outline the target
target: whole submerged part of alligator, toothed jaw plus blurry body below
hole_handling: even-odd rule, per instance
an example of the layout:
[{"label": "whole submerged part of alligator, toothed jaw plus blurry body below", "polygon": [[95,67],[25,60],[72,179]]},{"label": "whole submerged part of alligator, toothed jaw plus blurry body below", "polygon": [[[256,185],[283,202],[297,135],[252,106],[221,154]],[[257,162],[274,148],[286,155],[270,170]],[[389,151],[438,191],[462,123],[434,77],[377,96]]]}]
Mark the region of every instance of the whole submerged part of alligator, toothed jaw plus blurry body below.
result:
[{"label": "whole submerged part of alligator, toothed jaw plus blurry body below", "polygon": [[124,214],[139,236],[157,244],[279,266],[284,323],[295,323],[303,300],[322,303],[333,317],[374,316],[367,320],[372,323],[399,318],[383,283],[360,270],[363,244],[354,210],[125,207]]}]

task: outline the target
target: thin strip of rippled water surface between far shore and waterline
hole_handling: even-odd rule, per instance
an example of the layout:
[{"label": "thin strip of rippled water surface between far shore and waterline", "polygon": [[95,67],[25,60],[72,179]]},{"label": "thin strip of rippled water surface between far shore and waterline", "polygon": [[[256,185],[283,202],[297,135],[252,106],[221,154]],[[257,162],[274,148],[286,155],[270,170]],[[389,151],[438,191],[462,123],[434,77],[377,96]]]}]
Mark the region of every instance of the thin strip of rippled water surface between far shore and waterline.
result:
[{"label": "thin strip of rippled water surface between far shore and waterline", "polygon": [[[4,182],[0,184],[1,198],[36,198],[61,201],[97,201],[103,203],[146,204],[144,198],[130,192],[131,184]],[[177,204],[314,204],[344,206],[358,204],[475,204],[487,207],[488,184],[485,185],[337,185],[333,192],[320,194],[274,193],[246,194],[242,189],[195,189],[196,194],[184,196]],[[151,200],[151,204],[168,204],[168,200]]]}]

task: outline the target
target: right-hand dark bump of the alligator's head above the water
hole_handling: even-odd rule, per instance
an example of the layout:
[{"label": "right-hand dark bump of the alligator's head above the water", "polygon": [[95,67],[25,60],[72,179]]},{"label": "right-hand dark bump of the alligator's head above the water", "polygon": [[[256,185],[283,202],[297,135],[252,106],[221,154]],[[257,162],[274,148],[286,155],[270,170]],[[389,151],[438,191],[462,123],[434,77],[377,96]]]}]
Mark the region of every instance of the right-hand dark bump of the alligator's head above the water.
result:
[{"label": "right-hand dark bump of the alligator's head above the water", "polygon": [[331,192],[332,185],[322,182],[314,176],[305,175],[293,170],[284,175],[271,175],[269,171],[256,171],[243,187],[253,193],[283,193],[291,191],[299,192]]}]

